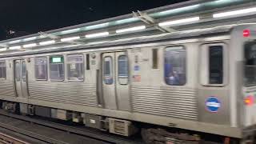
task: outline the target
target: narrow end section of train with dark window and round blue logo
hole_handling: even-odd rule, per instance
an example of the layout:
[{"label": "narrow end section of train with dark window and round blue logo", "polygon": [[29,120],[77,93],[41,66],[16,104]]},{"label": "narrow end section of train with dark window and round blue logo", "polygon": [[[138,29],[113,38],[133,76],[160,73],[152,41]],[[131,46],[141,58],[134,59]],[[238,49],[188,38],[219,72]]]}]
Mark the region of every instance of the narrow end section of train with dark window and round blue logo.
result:
[{"label": "narrow end section of train with dark window and round blue logo", "polygon": [[204,44],[200,49],[198,115],[201,122],[230,124],[227,49],[225,43]]}]

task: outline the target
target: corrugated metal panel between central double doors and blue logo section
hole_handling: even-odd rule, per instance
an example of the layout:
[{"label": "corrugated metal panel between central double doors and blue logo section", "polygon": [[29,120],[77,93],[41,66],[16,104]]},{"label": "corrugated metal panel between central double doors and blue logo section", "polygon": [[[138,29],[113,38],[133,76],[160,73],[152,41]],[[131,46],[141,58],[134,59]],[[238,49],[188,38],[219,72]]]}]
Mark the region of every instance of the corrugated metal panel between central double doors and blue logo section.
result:
[{"label": "corrugated metal panel between central double doors and blue logo section", "polygon": [[198,119],[196,90],[170,87],[132,87],[134,112]]}]

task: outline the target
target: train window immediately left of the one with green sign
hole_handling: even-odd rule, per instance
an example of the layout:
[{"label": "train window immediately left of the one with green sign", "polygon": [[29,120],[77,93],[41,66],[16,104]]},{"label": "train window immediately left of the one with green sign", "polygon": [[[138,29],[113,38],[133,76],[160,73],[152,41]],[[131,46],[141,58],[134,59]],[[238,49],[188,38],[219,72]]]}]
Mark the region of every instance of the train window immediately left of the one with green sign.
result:
[{"label": "train window immediately left of the one with green sign", "polygon": [[35,78],[47,80],[47,58],[35,58]]}]

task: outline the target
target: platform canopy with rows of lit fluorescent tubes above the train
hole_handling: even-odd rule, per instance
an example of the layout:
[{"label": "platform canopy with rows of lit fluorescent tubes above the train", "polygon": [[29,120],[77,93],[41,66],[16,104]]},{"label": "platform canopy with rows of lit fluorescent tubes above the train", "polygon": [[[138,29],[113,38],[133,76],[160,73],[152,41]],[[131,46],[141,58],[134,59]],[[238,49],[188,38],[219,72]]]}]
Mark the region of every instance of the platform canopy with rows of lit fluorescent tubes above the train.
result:
[{"label": "platform canopy with rows of lit fluorescent tubes above the train", "polygon": [[221,33],[250,22],[254,0],[192,0],[0,41],[0,57]]}]

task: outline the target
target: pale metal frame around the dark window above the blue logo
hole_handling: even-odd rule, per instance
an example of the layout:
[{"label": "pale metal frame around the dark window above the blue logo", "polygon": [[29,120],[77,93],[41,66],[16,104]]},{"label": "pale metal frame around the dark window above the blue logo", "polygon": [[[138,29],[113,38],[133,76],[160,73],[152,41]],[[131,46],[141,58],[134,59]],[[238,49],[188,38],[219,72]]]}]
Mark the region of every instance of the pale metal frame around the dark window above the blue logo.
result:
[{"label": "pale metal frame around the dark window above the blue logo", "polygon": [[[210,84],[210,46],[222,46],[223,58],[222,58],[222,70],[223,78],[222,84]],[[227,44],[225,42],[216,42],[216,43],[204,43],[200,46],[199,49],[199,69],[200,76],[199,82],[202,86],[212,86],[212,87],[224,87],[228,84],[228,63],[229,55],[227,50]]]}]

